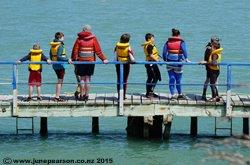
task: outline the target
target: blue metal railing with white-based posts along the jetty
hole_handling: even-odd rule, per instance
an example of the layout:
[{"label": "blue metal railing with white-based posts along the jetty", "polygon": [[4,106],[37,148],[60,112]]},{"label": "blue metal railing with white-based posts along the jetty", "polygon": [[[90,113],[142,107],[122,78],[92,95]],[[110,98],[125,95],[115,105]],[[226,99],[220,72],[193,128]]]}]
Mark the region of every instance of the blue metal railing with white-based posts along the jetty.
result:
[{"label": "blue metal railing with white-based posts along the jetty", "polygon": [[[27,64],[48,64],[47,62],[29,62],[29,61],[25,61],[22,63],[17,63],[17,62],[13,62],[13,61],[0,61],[0,65],[12,65],[12,89],[13,89],[13,114],[16,113],[16,108],[17,108],[17,65],[27,65]],[[50,64],[68,64],[67,62],[51,62]],[[78,65],[78,64],[103,64],[102,62],[73,62],[74,65]],[[115,64],[119,64],[120,65],[120,75],[123,75],[124,73],[124,68],[123,65],[124,63],[122,62],[117,62],[117,61],[112,61],[112,62],[108,62],[107,64],[104,65],[115,65]],[[199,65],[198,62],[146,62],[146,61],[138,61],[136,63],[134,63],[133,65],[142,65],[142,64],[159,64],[159,65],[171,65],[171,64],[178,64],[178,65]],[[70,65],[70,64],[69,64]],[[250,66],[250,63],[243,63],[243,62],[222,62],[219,65],[221,66],[226,66],[227,68],[227,81],[226,84],[220,84],[221,86],[226,86],[227,87],[227,99],[226,99],[226,115],[230,116],[231,114],[231,90],[232,90],[232,86],[235,84],[232,84],[232,67],[233,66]],[[119,91],[119,115],[123,115],[123,76],[120,76],[120,82],[119,82],[119,87],[120,87],[120,91]],[[96,84],[117,84],[117,83],[107,83],[107,82],[101,82],[101,83],[96,83]],[[145,84],[145,83],[130,83],[130,84]],[[165,85],[165,84],[161,84],[161,85]],[[203,85],[203,84],[182,84],[182,85]],[[237,85],[237,84],[236,84]]]}]

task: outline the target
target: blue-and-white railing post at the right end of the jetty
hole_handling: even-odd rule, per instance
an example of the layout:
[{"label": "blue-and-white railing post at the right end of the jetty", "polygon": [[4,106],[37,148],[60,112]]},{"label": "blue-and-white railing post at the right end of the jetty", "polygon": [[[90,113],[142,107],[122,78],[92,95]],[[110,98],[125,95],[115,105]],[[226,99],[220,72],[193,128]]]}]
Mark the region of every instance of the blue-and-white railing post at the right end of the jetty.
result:
[{"label": "blue-and-white railing post at the right end of the jetty", "polygon": [[227,98],[226,98],[226,116],[231,116],[231,89],[232,89],[232,67],[227,65]]}]

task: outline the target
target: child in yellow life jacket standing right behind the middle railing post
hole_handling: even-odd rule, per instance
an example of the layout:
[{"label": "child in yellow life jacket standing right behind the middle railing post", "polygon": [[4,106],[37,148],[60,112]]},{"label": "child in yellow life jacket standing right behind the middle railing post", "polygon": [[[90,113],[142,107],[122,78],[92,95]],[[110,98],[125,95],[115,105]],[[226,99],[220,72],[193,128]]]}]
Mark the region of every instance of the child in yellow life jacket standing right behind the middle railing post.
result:
[{"label": "child in yellow life jacket standing right behind the middle railing post", "polygon": [[[115,45],[116,61],[124,62],[123,64],[123,99],[126,99],[128,75],[130,71],[130,63],[134,62],[134,53],[129,45],[130,35],[122,34],[120,42]],[[117,92],[120,91],[120,64],[115,65],[117,74]]]}]

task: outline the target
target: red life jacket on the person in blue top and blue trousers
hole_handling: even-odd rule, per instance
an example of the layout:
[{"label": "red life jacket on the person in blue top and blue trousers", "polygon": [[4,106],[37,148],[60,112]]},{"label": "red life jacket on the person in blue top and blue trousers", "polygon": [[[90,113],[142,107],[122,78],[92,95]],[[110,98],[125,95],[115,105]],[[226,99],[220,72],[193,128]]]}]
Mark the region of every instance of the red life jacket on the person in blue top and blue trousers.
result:
[{"label": "red life jacket on the person in blue top and blue trousers", "polygon": [[168,42],[167,42],[168,53],[182,54],[182,50],[181,50],[181,42],[182,41],[183,40],[181,39],[181,37],[168,38]]}]

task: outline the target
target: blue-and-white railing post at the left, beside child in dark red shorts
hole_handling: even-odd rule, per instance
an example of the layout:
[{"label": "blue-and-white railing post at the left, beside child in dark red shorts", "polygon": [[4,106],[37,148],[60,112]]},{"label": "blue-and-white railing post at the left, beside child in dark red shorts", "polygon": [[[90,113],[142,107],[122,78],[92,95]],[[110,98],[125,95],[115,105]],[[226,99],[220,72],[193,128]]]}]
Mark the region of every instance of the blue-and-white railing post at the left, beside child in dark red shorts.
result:
[{"label": "blue-and-white railing post at the left, beside child in dark red shorts", "polygon": [[17,64],[12,68],[13,108],[12,115],[17,116]]}]

